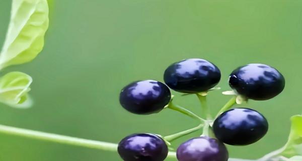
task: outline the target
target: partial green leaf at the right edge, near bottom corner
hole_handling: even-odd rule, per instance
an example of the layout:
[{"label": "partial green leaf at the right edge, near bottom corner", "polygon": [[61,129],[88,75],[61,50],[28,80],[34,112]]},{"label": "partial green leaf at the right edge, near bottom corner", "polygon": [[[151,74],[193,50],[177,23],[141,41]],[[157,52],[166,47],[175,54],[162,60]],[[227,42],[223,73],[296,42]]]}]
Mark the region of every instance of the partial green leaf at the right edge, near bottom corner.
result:
[{"label": "partial green leaf at the right edge, near bottom corner", "polygon": [[290,158],[302,155],[302,115],[295,115],[290,118],[291,129],[287,143],[280,154]]}]

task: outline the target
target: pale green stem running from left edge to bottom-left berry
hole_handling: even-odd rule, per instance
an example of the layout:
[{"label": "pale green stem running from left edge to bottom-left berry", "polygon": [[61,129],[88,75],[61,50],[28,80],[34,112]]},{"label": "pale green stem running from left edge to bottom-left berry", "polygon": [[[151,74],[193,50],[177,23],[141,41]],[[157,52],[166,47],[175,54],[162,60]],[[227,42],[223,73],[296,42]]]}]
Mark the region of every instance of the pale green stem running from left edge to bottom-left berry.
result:
[{"label": "pale green stem running from left edge to bottom-left berry", "polygon": [[76,137],[70,137],[70,136],[63,136],[63,135],[58,135],[58,134],[21,129],[21,128],[5,126],[5,125],[0,125],[0,133],[8,134],[8,135],[22,136],[22,137],[27,137],[27,138],[37,139],[37,140],[44,140],[44,141],[68,144],[68,145],[88,147],[88,148],[93,148],[93,149],[101,149],[101,150],[107,150],[107,151],[116,151],[117,150],[117,144],[114,144],[114,143],[88,140],[88,139],[82,139],[82,138],[76,138]]}]

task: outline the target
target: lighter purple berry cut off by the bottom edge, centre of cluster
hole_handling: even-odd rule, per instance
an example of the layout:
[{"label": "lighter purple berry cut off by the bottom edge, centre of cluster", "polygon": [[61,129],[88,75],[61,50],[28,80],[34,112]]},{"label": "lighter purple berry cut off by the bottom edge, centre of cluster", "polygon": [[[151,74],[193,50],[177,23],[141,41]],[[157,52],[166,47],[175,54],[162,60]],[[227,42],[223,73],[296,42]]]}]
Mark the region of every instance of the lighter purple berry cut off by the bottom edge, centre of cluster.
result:
[{"label": "lighter purple berry cut off by the bottom edge, centre of cluster", "polygon": [[217,139],[207,136],[192,138],[182,143],[176,152],[179,161],[227,161],[229,152]]}]

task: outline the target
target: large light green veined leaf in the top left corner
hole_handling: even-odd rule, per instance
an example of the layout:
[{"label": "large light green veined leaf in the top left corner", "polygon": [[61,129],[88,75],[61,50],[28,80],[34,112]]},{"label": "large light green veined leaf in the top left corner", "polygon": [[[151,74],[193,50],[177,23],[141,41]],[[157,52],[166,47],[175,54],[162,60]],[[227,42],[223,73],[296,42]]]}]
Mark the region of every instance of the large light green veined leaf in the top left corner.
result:
[{"label": "large light green veined leaf in the top left corner", "polygon": [[44,46],[48,22],[46,0],[13,0],[0,69],[34,59]]}]

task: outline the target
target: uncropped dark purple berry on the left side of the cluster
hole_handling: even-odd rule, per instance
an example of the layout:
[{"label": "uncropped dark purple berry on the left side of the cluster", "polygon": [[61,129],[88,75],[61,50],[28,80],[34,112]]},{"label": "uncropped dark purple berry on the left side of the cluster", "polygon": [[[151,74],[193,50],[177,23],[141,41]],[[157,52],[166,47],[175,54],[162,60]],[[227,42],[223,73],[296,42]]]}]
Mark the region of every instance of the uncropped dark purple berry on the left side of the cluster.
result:
[{"label": "uncropped dark purple berry on the left side of the cluster", "polygon": [[158,113],[170,100],[170,89],[165,84],[153,80],[133,82],[120,93],[120,104],[134,114]]}]

